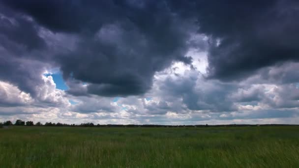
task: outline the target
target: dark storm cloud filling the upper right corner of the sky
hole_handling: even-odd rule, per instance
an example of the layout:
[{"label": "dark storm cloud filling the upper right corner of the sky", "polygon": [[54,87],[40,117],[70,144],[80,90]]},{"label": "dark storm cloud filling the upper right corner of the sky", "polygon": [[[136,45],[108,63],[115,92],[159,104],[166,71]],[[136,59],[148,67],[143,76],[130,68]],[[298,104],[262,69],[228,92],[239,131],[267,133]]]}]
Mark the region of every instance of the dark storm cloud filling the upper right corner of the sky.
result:
[{"label": "dark storm cloud filling the upper right corner of the sky", "polygon": [[298,0],[171,1],[209,36],[209,78],[248,77],[278,62],[299,60]]}]

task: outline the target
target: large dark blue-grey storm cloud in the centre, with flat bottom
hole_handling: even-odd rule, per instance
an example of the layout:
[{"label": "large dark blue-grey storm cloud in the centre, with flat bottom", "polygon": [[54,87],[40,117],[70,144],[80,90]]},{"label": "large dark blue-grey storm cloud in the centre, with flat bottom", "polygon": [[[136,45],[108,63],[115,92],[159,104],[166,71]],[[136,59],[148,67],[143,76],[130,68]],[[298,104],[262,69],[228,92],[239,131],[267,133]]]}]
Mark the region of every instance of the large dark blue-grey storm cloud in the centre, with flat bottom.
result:
[{"label": "large dark blue-grey storm cloud in the centre, with flat bottom", "polygon": [[78,36],[77,48],[47,59],[60,67],[65,80],[89,83],[90,94],[143,94],[150,89],[155,72],[173,61],[191,63],[191,58],[184,55],[195,27],[165,1],[3,0],[3,3],[53,32]]}]

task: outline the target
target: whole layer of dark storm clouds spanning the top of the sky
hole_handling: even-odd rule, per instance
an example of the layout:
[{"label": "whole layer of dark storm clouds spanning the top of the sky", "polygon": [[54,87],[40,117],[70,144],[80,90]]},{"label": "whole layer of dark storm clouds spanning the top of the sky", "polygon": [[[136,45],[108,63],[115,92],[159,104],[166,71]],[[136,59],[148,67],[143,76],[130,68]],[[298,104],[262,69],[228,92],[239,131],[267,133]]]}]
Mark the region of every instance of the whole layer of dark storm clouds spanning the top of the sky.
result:
[{"label": "whole layer of dark storm clouds spanning the top of the sky", "polygon": [[[0,9],[0,80],[33,97],[45,65],[60,68],[74,95],[144,94],[156,72],[173,61],[192,62],[188,49],[202,48],[188,43],[195,33],[209,38],[209,78],[235,81],[299,59],[296,0],[1,0]],[[50,45],[42,29],[65,39]],[[194,90],[182,92],[190,109],[217,101],[211,94],[198,107],[202,98]]]}]

